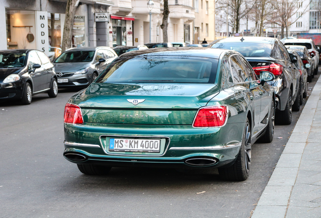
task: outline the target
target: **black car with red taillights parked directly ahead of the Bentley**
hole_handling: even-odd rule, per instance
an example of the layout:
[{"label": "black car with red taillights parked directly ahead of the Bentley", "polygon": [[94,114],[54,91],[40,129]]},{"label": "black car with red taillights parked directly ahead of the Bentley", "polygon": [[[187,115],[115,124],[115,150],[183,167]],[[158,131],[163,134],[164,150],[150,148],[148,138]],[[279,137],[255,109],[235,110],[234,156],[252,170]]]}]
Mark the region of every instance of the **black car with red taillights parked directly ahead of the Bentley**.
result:
[{"label": "black car with red taillights parked directly ahead of the Bentley", "polygon": [[292,105],[298,96],[300,72],[291,60],[282,42],[268,37],[231,37],[213,41],[208,47],[231,49],[240,52],[257,75],[269,71],[276,77],[268,82],[276,92],[276,121],[289,125],[292,121]]}]

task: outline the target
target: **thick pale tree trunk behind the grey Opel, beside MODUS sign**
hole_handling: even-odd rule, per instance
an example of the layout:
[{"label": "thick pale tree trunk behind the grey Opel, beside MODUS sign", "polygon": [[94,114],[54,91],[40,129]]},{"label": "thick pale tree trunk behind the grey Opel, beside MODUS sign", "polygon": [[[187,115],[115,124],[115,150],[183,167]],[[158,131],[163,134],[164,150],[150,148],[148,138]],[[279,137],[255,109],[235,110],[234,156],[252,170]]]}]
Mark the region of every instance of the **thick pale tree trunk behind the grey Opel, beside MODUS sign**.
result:
[{"label": "thick pale tree trunk behind the grey Opel, beside MODUS sign", "polygon": [[78,6],[78,4],[76,5],[77,2],[77,0],[68,0],[67,2],[63,43],[61,46],[62,52],[72,47],[74,18]]}]

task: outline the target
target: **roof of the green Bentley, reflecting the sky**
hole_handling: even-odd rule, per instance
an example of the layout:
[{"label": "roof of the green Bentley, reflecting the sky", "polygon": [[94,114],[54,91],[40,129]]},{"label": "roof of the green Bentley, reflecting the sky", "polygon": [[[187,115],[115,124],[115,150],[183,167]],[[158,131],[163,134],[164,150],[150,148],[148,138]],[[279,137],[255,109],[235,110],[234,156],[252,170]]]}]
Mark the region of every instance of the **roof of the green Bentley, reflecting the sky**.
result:
[{"label": "roof of the green Bentley, reflecting the sky", "polygon": [[223,52],[235,51],[221,49],[221,48],[207,48],[207,47],[167,47],[167,48],[150,48],[144,50],[136,50],[124,53],[121,57],[145,57],[148,56],[188,56],[200,58],[213,58],[219,59]]}]

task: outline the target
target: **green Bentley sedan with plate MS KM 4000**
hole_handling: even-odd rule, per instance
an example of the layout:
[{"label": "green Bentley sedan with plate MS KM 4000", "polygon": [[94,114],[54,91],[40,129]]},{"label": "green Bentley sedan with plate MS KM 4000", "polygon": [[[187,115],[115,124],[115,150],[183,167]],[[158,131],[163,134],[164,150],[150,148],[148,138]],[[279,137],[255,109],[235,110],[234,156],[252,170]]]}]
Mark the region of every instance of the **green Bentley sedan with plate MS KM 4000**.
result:
[{"label": "green Bentley sedan with plate MS KM 4000", "polygon": [[275,93],[232,50],[186,47],[125,53],[65,106],[67,160],[81,173],[112,167],[218,168],[249,176],[251,146],[274,135]]}]

